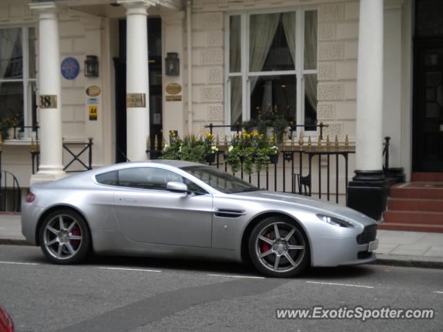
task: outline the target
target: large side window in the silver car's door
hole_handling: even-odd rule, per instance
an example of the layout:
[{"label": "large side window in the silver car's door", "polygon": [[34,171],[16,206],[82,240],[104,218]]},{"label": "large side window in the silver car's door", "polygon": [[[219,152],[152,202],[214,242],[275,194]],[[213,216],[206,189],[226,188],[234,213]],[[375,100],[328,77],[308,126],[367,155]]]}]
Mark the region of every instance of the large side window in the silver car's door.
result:
[{"label": "large side window in the silver car's door", "polygon": [[118,170],[118,185],[150,190],[166,190],[168,182],[181,182],[192,192],[206,192],[187,178],[166,169],[154,167],[134,167]]}]

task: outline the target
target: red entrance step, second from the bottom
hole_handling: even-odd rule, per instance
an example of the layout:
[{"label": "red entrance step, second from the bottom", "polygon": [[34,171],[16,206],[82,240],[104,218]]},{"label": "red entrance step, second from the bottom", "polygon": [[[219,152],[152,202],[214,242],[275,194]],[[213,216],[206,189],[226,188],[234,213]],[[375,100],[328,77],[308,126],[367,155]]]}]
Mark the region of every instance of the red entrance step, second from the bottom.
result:
[{"label": "red entrance step, second from the bottom", "polygon": [[384,214],[385,223],[413,223],[416,225],[442,225],[443,212],[423,212],[423,211],[386,211]]}]

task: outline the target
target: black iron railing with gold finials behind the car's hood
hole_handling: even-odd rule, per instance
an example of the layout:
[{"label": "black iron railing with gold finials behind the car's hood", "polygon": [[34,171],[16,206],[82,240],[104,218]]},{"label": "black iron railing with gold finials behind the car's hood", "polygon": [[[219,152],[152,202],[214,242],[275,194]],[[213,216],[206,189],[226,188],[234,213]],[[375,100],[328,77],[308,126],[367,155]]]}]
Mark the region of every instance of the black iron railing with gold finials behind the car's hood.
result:
[{"label": "black iron railing with gold finials behind the car's hood", "polygon": [[[284,143],[280,147],[278,159],[269,165],[266,172],[248,175],[241,167],[237,174],[233,174],[266,190],[306,196],[315,193],[319,199],[325,195],[328,201],[335,196],[338,203],[341,192],[347,195],[349,155],[355,153],[350,151],[347,137],[342,147],[338,145],[338,140],[331,147],[329,138],[326,145],[321,145],[320,140],[316,147],[312,147],[310,142],[304,145],[302,140],[299,143],[298,147],[293,144],[293,140],[290,145]],[[227,148],[227,145],[220,147],[213,165],[230,172],[230,167],[224,162],[224,151]],[[315,188],[313,180],[316,181]]]}]

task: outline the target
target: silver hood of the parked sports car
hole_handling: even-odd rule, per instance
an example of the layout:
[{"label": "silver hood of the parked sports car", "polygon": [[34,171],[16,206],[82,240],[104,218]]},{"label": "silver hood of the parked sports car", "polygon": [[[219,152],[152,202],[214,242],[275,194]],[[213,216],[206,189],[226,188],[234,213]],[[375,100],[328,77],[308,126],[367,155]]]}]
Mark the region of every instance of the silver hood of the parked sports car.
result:
[{"label": "silver hood of the parked sports car", "polygon": [[[347,208],[343,205],[336,203],[329,203],[321,199],[314,199],[309,196],[302,196],[297,194],[289,194],[284,192],[269,192],[269,191],[257,191],[257,192],[244,192],[234,194],[238,199],[257,199],[257,201],[266,201],[267,203],[273,203],[278,205],[292,206],[294,208],[302,208],[311,210],[315,213],[326,214],[328,216],[336,216],[338,218],[352,219],[359,221],[363,225],[372,225],[376,223],[374,219],[366,216],[365,214]],[[263,202],[264,203],[264,202]]]}]

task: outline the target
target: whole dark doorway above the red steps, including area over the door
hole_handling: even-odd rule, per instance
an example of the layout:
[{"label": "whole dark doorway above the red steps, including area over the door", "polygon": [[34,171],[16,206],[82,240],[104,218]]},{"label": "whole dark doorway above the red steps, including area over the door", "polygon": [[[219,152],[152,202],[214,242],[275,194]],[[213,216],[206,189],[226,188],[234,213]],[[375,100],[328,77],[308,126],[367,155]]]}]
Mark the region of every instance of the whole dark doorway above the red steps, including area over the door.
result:
[{"label": "whole dark doorway above the red steps, including area over the door", "polygon": [[415,1],[413,172],[443,172],[443,1]]}]

